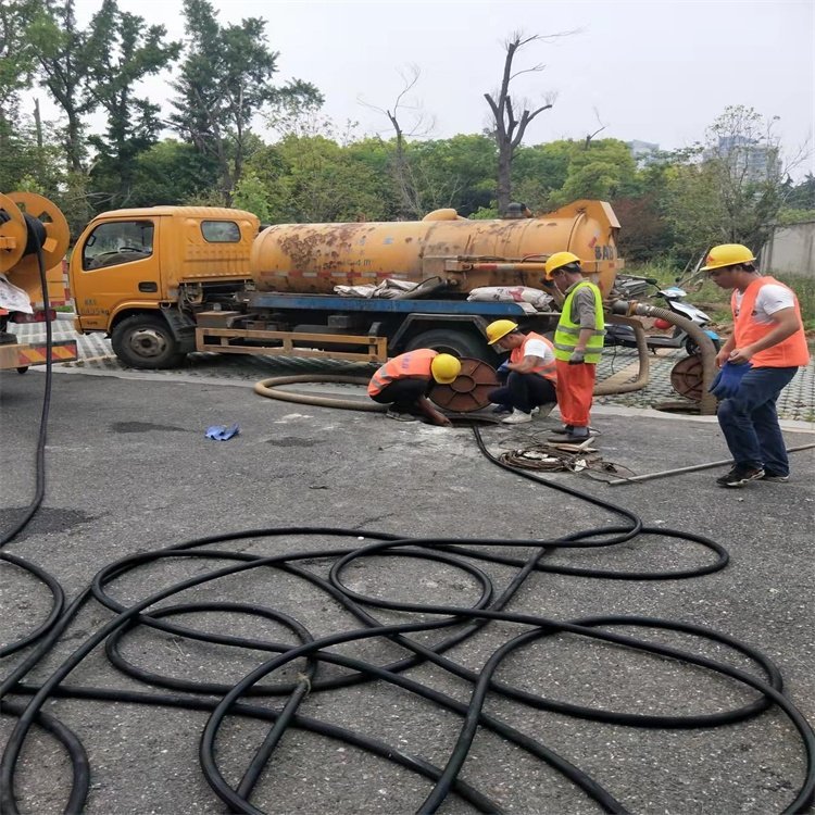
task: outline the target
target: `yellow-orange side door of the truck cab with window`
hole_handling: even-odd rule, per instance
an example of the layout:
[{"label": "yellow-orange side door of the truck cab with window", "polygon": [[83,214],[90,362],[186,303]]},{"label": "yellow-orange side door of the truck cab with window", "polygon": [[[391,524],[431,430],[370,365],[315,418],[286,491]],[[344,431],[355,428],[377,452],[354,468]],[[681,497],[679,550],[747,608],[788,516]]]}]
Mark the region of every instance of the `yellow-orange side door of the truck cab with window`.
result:
[{"label": "yellow-orange side door of the truck cab with window", "polygon": [[153,218],[105,221],[79,239],[71,289],[83,330],[108,330],[122,304],[154,308],[162,299]]}]

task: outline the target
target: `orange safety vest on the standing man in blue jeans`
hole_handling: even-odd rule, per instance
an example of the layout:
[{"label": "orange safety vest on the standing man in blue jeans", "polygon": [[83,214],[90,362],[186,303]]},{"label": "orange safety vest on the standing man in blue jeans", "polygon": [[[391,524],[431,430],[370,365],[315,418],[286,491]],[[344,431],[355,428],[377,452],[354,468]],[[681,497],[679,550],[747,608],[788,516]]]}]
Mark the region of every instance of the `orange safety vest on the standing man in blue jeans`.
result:
[{"label": "orange safety vest on the standing man in blue jeans", "polygon": [[[762,286],[770,283],[783,286],[782,283],[778,283],[773,277],[760,277],[747,287],[741,298],[741,303],[737,302],[736,292],[734,291],[730,298],[730,306],[734,313],[736,348],[744,348],[744,346],[757,342],[777,327],[776,323],[760,323],[755,319],[755,299],[758,297]],[[789,287],[783,286],[783,288],[788,289]],[[792,297],[795,306],[795,316],[799,323],[801,323],[801,306],[794,293]],[[804,334],[803,324],[787,339],[753,354],[750,362],[753,363],[753,367],[757,368],[790,368],[808,365],[810,351],[806,348],[806,335]]]}]

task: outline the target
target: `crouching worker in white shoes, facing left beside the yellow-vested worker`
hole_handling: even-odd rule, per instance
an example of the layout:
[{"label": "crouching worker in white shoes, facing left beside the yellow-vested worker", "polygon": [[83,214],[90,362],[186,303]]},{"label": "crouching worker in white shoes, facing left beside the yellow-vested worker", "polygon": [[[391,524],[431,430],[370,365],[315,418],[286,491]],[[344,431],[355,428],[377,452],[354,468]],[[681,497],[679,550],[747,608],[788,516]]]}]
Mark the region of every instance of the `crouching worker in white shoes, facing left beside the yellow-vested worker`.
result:
[{"label": "crouching worker in white shoes, facing left beside the yellow-vested worker", "polygon": [[502,424],[531,422],[535,411],[548,416],[557,401],[552,343],[534,331],[519,331],[517,323],[511,319],[490,323],[487,326],[487,343],[510,351],[510,361],[505,363],[506,384],[489,394],[491,402],[504,405],[510,412]]}]

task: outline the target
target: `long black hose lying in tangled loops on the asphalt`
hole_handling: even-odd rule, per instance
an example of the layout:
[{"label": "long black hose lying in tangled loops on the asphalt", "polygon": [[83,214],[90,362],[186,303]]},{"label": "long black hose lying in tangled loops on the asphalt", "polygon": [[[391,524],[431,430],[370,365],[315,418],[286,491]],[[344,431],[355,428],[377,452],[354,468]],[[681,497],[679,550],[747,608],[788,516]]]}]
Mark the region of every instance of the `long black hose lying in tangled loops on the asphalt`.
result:
[{"label": "long black hose lying in tangled loops on the asphalt", "polygon": [[[424,802],[417,802],[418,812],[431,813],[437,811],[450,793],[461,797],[479,812],[501,812],[501,806],[497,801],[476,789],[472,782],[465,782],[460,778],[462,766],[468,755],[478,727],[485,727],[499,734],[530,755],[546,762],[582,790],[603,811],[626,812],[623,802],[617,800],[597,779],[575,766],[567,757],[557,754],[539,740],[511,727],[499,717],[486,713],[484,711],[485,699],[489,693],[496,693],[536,710],[552,711],[585,720],[640,728],[687,729],[732,725],[760,714],[770,705],[776,705],[798,730],[806,756],[805,777],[783,812],[802,812],[811,801],[815,787],[815,737],[804,717],[783,694],[780,672],[768,657],[724,634],[701,626],[655,617],[609,615],[562,620],[506,610],[510,601],[525,585],[528,577],[536,573],[556,573],[591,579],[611,578],[616,580],[688,579],[724,568],[728,561],[726,550],[717,542],[703,536],[645,526],[636,514],[628,510],[582,493],[565,484],[546,480],[528,472],[516,471],[489,453],[477,428],[474,428],[474,436],[481,452],[498,466],[513,475],[538,481],[548,488],[588,501],[592,505],[620,517],[623,523],[592,527],[551,540],[404,538],[388,532],[334,527],[262,528],[209,536],[175,547],[134,554],[111,563],[99,570],[88,590],[76,598],[64,612],[57,614],[52,612],[51,617],[49,617],[51,622],[40,626],[38,630],[37,636],[41,637],[40,643],[24,663],[17,666],[0,685],[0,695],[13,694],[15,697],[3,702],[2,712],[17,719],[3,752],[2,762],[0,762],[0,787],[2,788],[0,810],[8,815],[15,815],[20,812],[15,791],[17,764],[25,740],[35,726],[42,727],[47,732],[54,735],[64,745],[72,761],[73,782],[67,795],[65,812],[77,813],[83,810],[89,790],[91,772],[85,751],[79,740],[64,725],[54,719],[52,713],[46,715],[42,711],[42,706],[51,698],[78,698],[100,702],[115,700],[117,702],[173,706],[190,711],[206,711],[209,718],[201,734],[199,760],[206,781],[231,812],[255,814],[263,812],[260,804],[252,802],[253,792],[262,774],[269,772],[269,767],[272,772],[274,770],[275,751],[281,740],[286,739],[289,729],[302,729],[352,744],[428,778],[432,788]],[[702,548],[706,550],[712,554],[712,557],[710,562],[700,566],[680,567],[667,572],[590,569],[548,562],[550,554],[555,551],[609,549],[622,543],[630,543],[643,535],[663,537],[673,541],[686,541],[693,549]],[[339,550],[336,548],[315,548],[306,551],[285,551],[284,543],[276,547],[283,553],[272,556],[262,556],[248,551],[233,551],[221,546],[234,546],[236,542],[259,538],[285,541],[287,537],[310,537],[318,540],[350,538],[354,541],[354,544]],[[359,538],[363,538],[365,543],[360,546],[356,540]],[[528,549],[529,551],[523,557],[516,553],[503,551],[507,549]],[[448,568],[460,569],[477,587],[476,595],[466,605],[396,602],[354,591],[347,585],[344,576],[354,566],[369,559],[394,556],[421,559],[439,563]],[[118,580],[134,575],[145,567],[178,560],[201,562],[216,560],[224,562],[226,565],[208,568],[171,586],[164,586],[161,590],[136,603],[124,604],[115,598],[114,588]],[[317,574],[313,568],[306,567],[314,561],[326,560],[329,560],[331,565],[325,576]],[[476,564],[511,566],[516,572],[509,585],[498,592],[485,568]],[[339,630],[329,636],[315,637],[302,622],[291,615],[260,604],[196,600],[188,603],[162,605],[162,603],[171,601],[172,598],[188,589],[205,585],[214,588],[221,578],[237,577],[242,574],[250,575],[261,569],[283,573],[292,580],[308,581],[312,587],[323,591],[327,597],[341,604],[342,609],[359,620],[359,627]],[[91,600],[108,607],[113,613],[113,618],[86,639],[52,672],[46,681],[37,685],[26,684],[24,681],[25,676],[50,653],[71,620]],[[385,624],[375,616],[374,610],[377,609],[401,615],[421,615],[421,619]],[[272,620],[283,626],[291,635],[292,641],[276,642],[231,634],[216,634],[180,625],[176,622],[185,615],[213,612],[241,614],[250,618],[258,617]],[[454,645],[462,644],[475,637],[490,623],[522,625],[527,630],[499,647],[480,670],[469,669],[455,660],[446,656],[446,653]],[[686,650],[609,630],[619,626],[675,631],[727,645],[752,660],[765,678],[756,678],[752,674],[731,665]],[[134,665],[122,655],[123,640],[139,628],[154,629],[175,637],[227,648],[254,649],[268,656],[262,657],[263,661],[256,668],[240,681],[234,684],[205,682],[197,678],[178,679],[163,676],[155,670]],[[438,638],[435,642],[419,642],[411,637],[411,635],[428,631],[438,631]],[[636,711],[618,712],[566,703],[514,687],[497,678],[496,672],[510,654],[523,651],[525,647],[535,641],[556,638],[563,634],[612,643],[616,647],[654,654],[703,668],[719,677],[745,686],[756,691],[757,695],[747,704],[713,714],[645,715]],[[369,661],[329,650],[340,643],[364,642],[380,638],[385,638],[390,643],[406,651],[408,655],[385,665],[377,665]],[[34,637],[29,636],[26,641],[30,643],[33,639]],[[164,688],[168,692],[88,688],[65,682],[72,672],[102,643],[111,664],[117,670],[131,679],[145,682],[152,688]],[[267,677],[274,677],[275,672],[301,662],[302,667],[293,681],[277,681],[274,684],[262,681]],[[418,665],[432,665],[438,670],[469,682],[473,688],[469,701],[467,703],[457,701],[405,676],[409,668]],[[324,668],[327,666],[341,667],[350,673],[339,677],[323,676]],[[462,718],[459,737],[450,750],[444,766],[435,766],[425,758],[409,755],[403,750],[383,740],[318,720],[301,711],[301,707],[308,704],[308,700],[312,697],[329,694],[341,688],[372,681],[393,685],[415,694],[417,698],[431,701]],[[23,705],[20,701],[23,695],[30,697],[26,705]],[[213,699],[213,695],[220,699]],[[269,710],[265,706],[248,703],[248,700],[256,698],[280,698],[280,706]],[[215,743],[223,724],[227,718],[235,716],[267,722],[269,727],[263,742],[255,749],[254,755],[248,762],[240,781],[230,785],[223,776]]]}]

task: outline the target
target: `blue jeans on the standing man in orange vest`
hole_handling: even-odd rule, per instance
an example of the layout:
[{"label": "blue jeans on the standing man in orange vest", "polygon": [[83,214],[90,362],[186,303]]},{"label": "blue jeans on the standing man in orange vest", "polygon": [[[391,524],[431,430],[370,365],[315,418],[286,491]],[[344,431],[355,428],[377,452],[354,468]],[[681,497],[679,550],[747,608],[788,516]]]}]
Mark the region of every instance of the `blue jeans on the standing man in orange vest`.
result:
[{"label": "blue jeans on the standing man in orange vest", "polygon": [[719,404],[718,424],[737,466],[789,475],[776,402],[797,372],[797,367],[751,368],[741,378],[736,396]]}]

